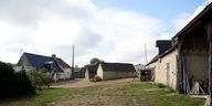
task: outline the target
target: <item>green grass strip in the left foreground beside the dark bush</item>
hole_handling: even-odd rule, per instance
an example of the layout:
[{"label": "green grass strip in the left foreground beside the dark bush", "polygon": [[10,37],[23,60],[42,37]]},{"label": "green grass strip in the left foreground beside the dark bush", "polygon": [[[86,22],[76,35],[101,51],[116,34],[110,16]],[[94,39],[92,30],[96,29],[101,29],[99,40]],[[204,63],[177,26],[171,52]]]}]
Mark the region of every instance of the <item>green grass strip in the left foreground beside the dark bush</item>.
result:
[{"label": "green grass strip in the left foreground beside the dark bush", "polygon": [[39,92],[34,96],[25,96],[15,99],[8,99],[0,103],[0,106],[46,106],[49,103],[65,96],[78,93],[73,88],[50,88]]}]

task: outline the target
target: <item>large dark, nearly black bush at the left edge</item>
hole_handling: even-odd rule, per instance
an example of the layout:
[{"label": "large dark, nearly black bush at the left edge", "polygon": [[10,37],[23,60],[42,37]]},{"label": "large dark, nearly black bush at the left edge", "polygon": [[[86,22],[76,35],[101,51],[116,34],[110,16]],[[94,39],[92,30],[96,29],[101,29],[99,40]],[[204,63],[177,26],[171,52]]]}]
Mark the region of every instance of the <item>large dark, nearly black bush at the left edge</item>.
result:
[{"label": "large dark, nearly black bush at the left edge", "polygon": [[15,73],[11,64],[0,62],[0,98],[34,94],[24,71]]}]

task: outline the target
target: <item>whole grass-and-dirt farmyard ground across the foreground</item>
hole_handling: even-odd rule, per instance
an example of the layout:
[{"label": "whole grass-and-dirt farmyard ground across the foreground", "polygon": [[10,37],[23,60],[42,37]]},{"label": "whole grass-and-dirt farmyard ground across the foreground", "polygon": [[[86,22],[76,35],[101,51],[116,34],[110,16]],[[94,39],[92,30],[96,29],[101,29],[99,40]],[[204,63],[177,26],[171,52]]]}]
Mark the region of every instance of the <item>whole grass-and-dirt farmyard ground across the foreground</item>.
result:
[{"label": "whole grass-and-dirt farmyard ground across the foreground", "polygon": [[202,106],[205,102],[150,83],[105,82],[105,85],[44,89],[33,97],[10,99],[0,106]]}]

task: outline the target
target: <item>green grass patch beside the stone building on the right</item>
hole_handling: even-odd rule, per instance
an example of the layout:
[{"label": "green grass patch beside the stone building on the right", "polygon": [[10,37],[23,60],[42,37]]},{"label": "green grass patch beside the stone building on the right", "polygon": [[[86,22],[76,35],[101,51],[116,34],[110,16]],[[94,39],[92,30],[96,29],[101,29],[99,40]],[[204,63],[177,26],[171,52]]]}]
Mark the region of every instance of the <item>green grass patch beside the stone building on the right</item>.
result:
[{"label": "green grass patch beside the stone building on the right", "polygon": [[[204,98],[191,98],[169,88],[159,88],[153,84],[131,84],[123,89],[125,95],[146,98],[156,106],[203,106]],[[145,103],[145,102],[144,102]]]}]

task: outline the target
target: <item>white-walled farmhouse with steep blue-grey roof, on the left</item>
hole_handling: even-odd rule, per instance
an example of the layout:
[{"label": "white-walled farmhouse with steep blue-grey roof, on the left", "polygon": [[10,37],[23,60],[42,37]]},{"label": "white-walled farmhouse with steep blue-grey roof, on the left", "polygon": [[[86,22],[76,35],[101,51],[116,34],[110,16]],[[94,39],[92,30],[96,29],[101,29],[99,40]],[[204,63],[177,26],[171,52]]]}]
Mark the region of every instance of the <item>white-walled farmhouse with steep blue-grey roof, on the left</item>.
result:
[{"label": "white-walled farmhouse with steep blue-grey roof, on the left", "polygon": [[15,71],[24,70],[26,72],[42,68],[46,68],[54,81],[71,78],[71,66],[63,60],[56,57],[55,54],[52,54],[52,56],[44,56],[23,53],[17,66],[14,66]]}]

